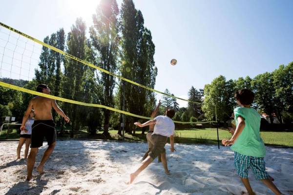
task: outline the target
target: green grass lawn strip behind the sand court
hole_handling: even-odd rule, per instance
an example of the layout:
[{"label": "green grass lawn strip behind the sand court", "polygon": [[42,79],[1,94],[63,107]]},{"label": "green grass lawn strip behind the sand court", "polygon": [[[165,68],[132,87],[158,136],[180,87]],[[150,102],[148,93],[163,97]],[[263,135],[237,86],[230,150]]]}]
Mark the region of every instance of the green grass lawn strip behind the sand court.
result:
[{"label": "green grass lawn strip behind the sand court", "polygon": [[[89,139],[105,139],[105,140],[122,140],[122,137],[117,134],[117,130],[110,130],[110,136],[105,137],[102,132],[95,135],[89,135],[86,130],[78,131],[74,134],[74,138],[89,138]],[[230,138],[230,133],[227,130],[219,129],[219,139]],[[290,146],[293,147],[293,132],[261,132],[266,145],[274,146]],[[18,139],[19,134],[16,129],[13,129],[8,134],[8,139]],[[58,138],[70,138],[69,133]],[[6,139],[6,130],[2,131],[0,140]],[[141,134],[141,130],[136,131],[136,135],[125,134],[126,141],[146,141],[146,135]],[[192,144],[217,144],[217,131],[214,128],[206,129],[183,129],[176,130],[176,143],[192,143]]]}]

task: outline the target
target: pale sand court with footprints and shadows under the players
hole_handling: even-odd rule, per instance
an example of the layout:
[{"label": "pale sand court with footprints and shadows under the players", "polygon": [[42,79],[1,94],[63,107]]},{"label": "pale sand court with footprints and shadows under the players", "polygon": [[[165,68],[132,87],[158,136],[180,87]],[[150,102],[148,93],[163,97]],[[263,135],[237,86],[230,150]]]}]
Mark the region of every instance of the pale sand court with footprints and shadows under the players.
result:
[{"label": "pale sand court with footprints and shadows under the players", "polygon": [[[65,140],[57,141],[45,173],[34,169],[33,180],[26,182],[26,160],[16,159],[18,142],[0,142],[0,194],[18,195],[241,195],[245,191],[233,165],[229,147],[175,144],[166,145],[166,175],[154,160],[131,185],[129,174],[140,164],[146,143]],[[45,144],[45,142],[44,142]],[[40,148],[37,166],[46,146]],[[286,195],[293,195],[293,149],[267,147],[269,174]],[[23,156],[23,150],[21,151]],[[272,195],[249,173],[257,195]]]}]

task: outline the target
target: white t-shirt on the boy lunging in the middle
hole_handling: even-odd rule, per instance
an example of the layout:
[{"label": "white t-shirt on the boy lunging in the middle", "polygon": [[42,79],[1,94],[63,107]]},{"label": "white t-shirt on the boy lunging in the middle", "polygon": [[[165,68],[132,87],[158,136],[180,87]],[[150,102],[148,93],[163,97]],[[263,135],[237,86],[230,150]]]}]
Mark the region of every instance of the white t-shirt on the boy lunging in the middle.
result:
[{"label": "white t-shirt on the boy lunging in the middle", "polygon": [[154,120],[156,120],[156,124],[153,134],[158,134],[166,137],[174,135],[175,125],[171,118],[167,116],[158,116],[155,117]]}]

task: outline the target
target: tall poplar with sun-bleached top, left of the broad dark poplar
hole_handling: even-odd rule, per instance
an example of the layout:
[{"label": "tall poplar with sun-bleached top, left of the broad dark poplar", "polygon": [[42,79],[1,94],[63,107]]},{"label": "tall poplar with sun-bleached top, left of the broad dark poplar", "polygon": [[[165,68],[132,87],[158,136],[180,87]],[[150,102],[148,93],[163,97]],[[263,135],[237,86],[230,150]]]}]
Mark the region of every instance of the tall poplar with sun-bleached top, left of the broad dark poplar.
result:
[{"label": "tall poplar with sun-bleached top, left of the broad dark poplar", "polygon": [[[90,28],[90,39],[98,58],[101,68],[111,72],[117,72],[118,55],[118,5],[116,0],[101,0],[93,16],[94,25]],[[113,89],[115,78],[104,72],[101,73],[101,84],[103,86],[103,97],[101,103],[113,107]],[[110,111],[104,112],[104,135],[109,135]]]}]

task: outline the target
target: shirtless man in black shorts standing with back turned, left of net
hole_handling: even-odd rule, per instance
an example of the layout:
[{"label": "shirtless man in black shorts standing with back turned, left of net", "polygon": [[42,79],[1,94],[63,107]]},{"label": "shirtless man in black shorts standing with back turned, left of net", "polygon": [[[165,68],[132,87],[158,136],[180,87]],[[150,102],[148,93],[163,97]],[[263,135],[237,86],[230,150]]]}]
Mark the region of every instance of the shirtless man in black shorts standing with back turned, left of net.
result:
[{"label": "shirtless man in black shorts standing with back turned, left of net", "polygon": [[[44,94],[50,94],[50,89],[45,84],[40,84],[37,87],[37,92]],[[27,180],[32,179],[32,172],[36,161],[36,156],[39,150],[39,147],[42,146],[43,137],[46,137],[48,142],[48,148],[44,152],[40,165],[37,167],[37,170],[40,174],[44,173],[43,168],[46,160],[52,154],[54,147],[56,145],[56,131],[55,123],[52,117],[52,107],[54,110],[62,116],[66,122],[69,122],[70,119],[63,113],[59,108],[55,99],[44,98],[37,96],[32,98],[29,102],[29,105],[24,113],[21,124],[21,131],[25,130],[25,122],[29,116],[29,113],[32,109],[35,110],[35,122],[32,125],[32,137],[31,137],[31,150],[27,158]]]}]

